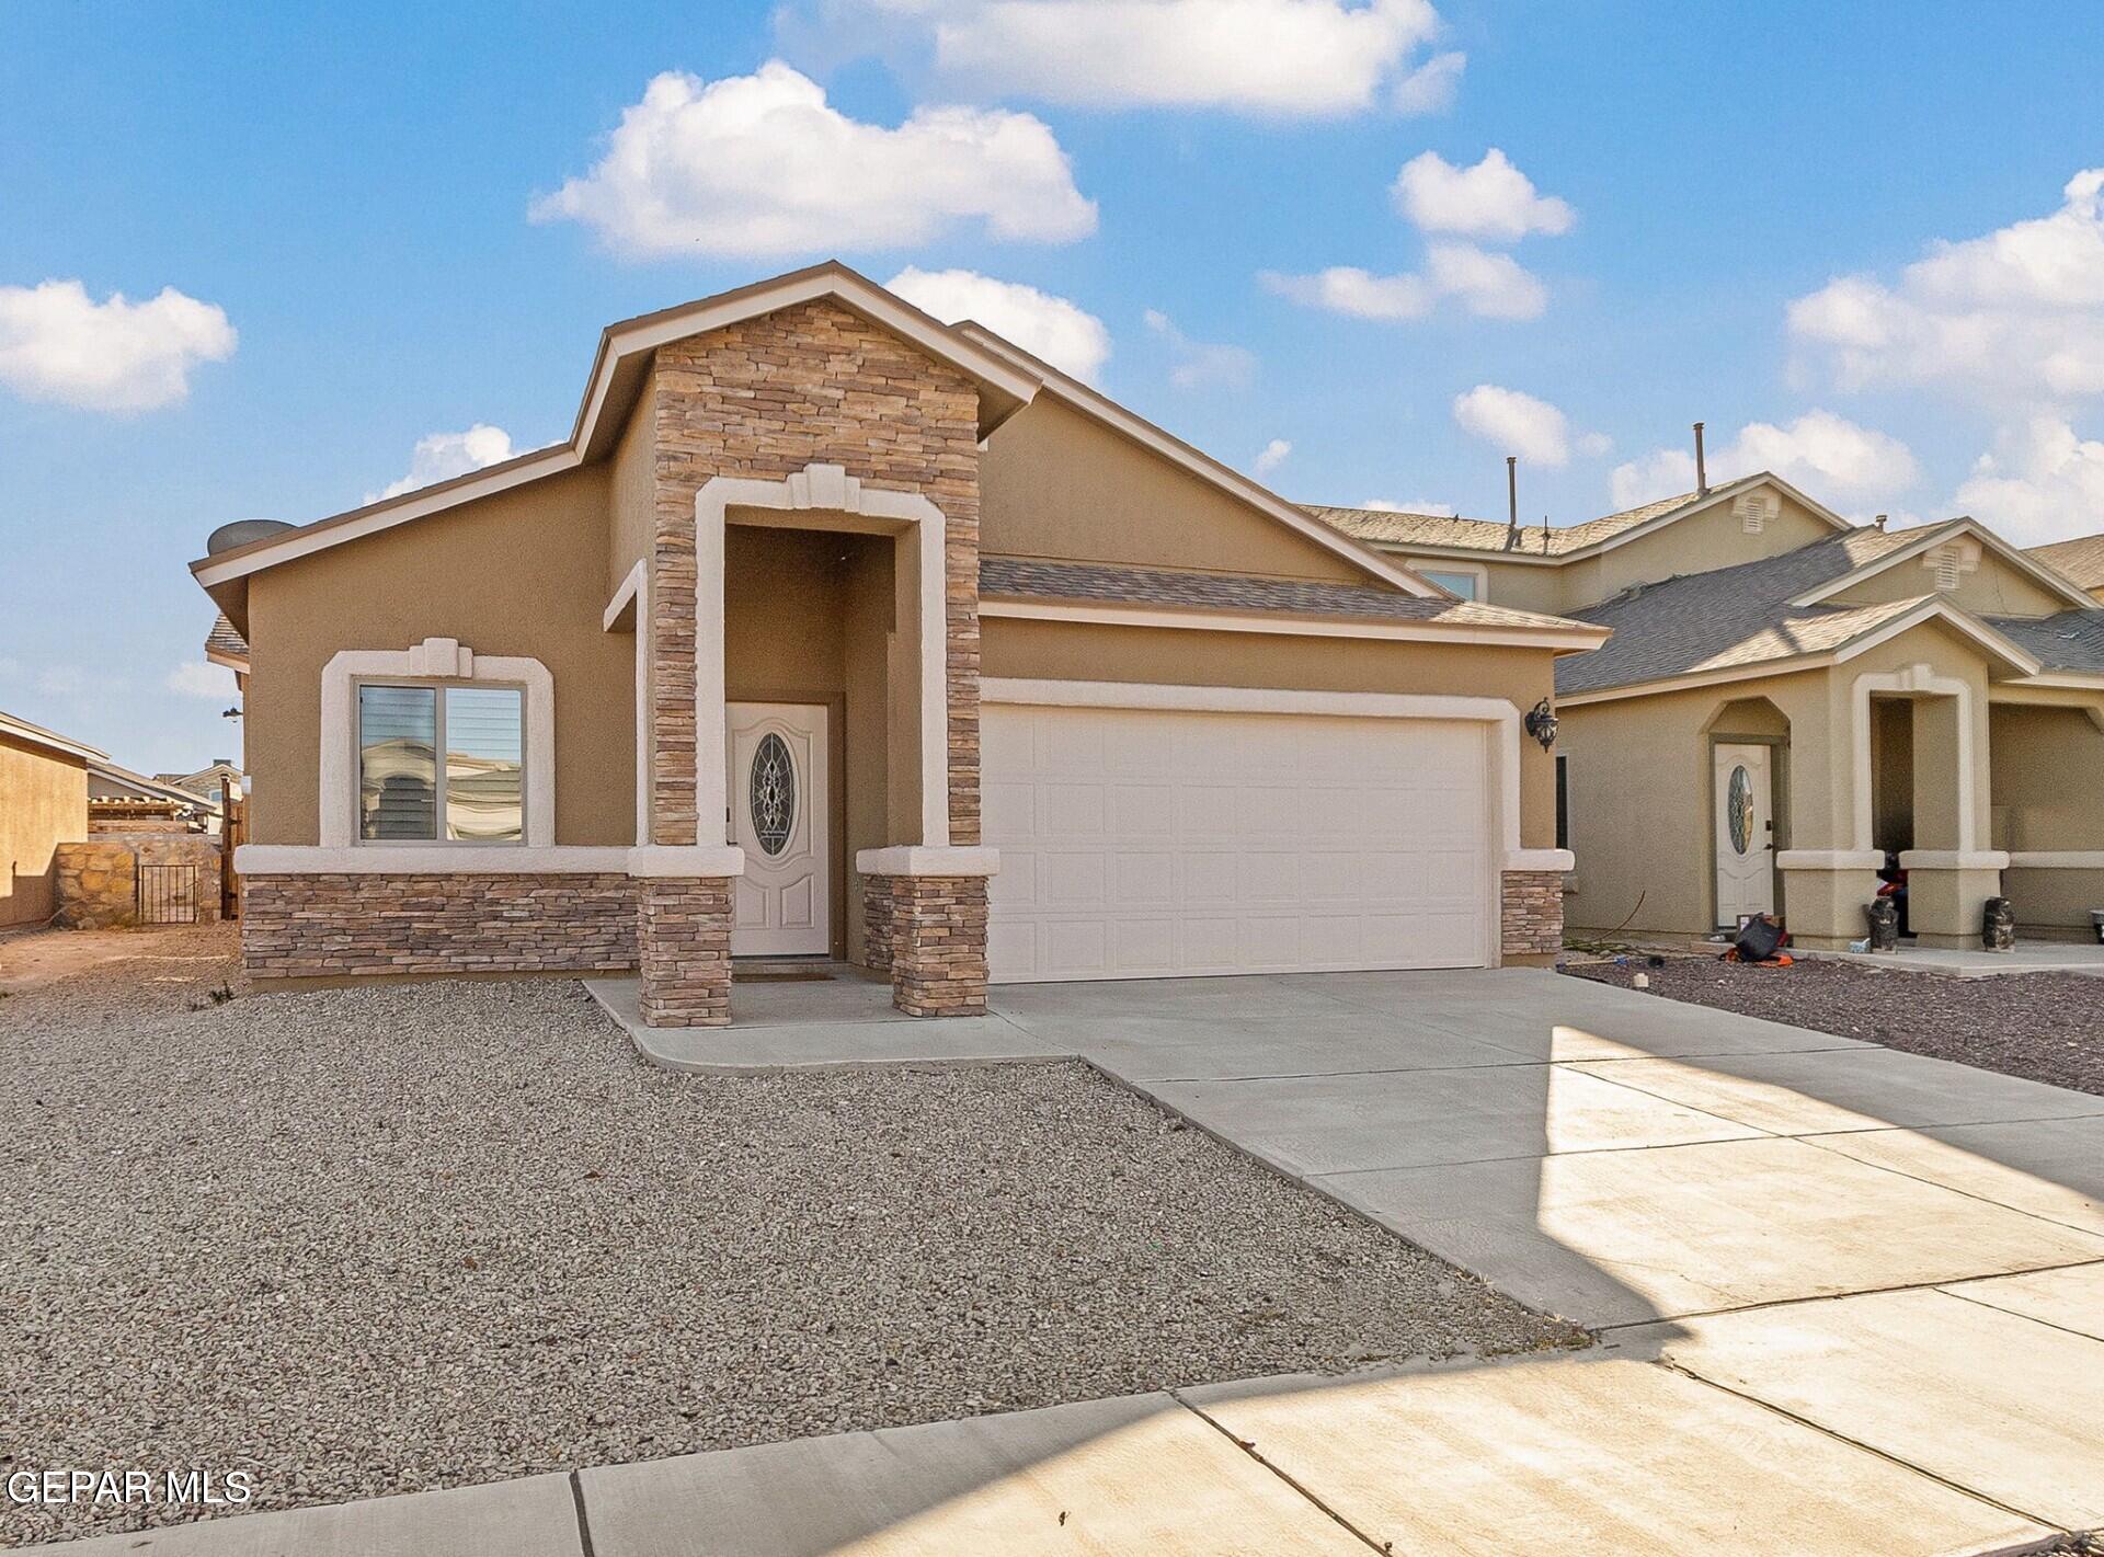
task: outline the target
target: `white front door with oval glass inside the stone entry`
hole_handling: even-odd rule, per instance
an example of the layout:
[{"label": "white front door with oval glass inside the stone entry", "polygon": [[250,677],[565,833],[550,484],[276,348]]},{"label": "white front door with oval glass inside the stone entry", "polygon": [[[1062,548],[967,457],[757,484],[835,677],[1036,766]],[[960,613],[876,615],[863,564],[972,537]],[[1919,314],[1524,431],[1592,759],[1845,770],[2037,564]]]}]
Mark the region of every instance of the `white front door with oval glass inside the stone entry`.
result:
[{"label": "white front door with oval glass inside the stone entry", "polygon": [[745,850],[732,888],[730,955],[833,949],[833,827],[825,707],[726,703],[730,842]]}]

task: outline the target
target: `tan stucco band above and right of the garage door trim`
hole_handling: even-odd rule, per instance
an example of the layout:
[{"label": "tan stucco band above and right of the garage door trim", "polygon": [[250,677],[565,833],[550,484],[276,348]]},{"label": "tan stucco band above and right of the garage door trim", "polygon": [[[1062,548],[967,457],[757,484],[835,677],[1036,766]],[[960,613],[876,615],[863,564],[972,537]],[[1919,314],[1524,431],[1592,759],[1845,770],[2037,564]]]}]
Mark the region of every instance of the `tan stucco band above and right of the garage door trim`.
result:
[{"label": "tan stucco band above and right of the garage door trim", "polygon": [[[983,623],[985,675],[1063,682],[1262,686],[1304,692],[1420,692],[1498,696],[1521,713],[1551,692],[1540,648],[1481,648],[1283,633],[1208,633],[1180,627]],[[1557,833],[1555,764],[1519,743],[1519,842],[1549,848]]]}]

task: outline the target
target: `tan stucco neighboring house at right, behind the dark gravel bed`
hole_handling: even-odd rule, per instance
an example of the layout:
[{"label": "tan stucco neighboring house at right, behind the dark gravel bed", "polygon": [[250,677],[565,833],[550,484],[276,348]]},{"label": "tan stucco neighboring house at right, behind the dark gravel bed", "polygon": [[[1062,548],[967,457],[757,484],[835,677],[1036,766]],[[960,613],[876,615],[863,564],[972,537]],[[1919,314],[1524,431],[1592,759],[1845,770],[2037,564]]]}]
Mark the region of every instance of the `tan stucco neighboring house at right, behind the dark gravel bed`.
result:
[{"label": "tan stucco neighboring house at right, behind the dark gravel bed", "polygon": [[1557,665],[1572,926],[1780,911],[1835,947],[1885,854],[1929,945],[1978,945],[2003,892],[2028,932],[2104,909],[2104,608],[1984,526],[1858,528],[1765,473],[1517,545],[1315,511],[1477,600],[1614,629]]}]

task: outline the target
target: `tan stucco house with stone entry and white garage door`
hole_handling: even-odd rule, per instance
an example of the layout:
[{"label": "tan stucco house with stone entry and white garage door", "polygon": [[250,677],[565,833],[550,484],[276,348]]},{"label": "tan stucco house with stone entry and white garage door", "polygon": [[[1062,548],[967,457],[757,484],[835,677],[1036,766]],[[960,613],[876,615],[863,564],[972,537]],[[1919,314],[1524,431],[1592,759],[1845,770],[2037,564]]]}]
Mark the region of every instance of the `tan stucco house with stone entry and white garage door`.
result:
[{"label": "tan stucco house with stone entry and white garage door", "polygon": [[[818,265],[608,328],[570,438],[194,564],[265,978],[995,980],[1542,959],[1599,627],[1464,604]],[[989,905],[991,877],[991,905]]]}]

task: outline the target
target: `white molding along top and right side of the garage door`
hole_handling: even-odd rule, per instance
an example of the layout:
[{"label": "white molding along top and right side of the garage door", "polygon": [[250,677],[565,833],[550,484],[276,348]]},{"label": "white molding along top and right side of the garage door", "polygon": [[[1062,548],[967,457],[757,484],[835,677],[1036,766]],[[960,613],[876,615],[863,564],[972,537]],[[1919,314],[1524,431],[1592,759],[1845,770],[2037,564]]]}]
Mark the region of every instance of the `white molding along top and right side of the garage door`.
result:
[{"label": "white molding along top and right side of the garage door", "polygon": [[[993,675],[980,703],[1069,709],[1180,709],[1193,713],[1311,713],[1340,720],[1460,720],[1492,726],[1490,785],[1496,802],[1492,863],[1532,850],[1519,844],[1519,709],[1496,696],[1416,692],[1288,692],[1269,686],[1168,686],[1153,682],[1044,682]],[[1565,850],[1540,850],[1567,854]],[[1502,867],[1570,869],[1570,867]]]}]

